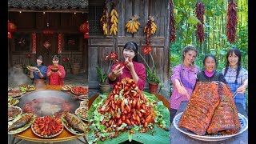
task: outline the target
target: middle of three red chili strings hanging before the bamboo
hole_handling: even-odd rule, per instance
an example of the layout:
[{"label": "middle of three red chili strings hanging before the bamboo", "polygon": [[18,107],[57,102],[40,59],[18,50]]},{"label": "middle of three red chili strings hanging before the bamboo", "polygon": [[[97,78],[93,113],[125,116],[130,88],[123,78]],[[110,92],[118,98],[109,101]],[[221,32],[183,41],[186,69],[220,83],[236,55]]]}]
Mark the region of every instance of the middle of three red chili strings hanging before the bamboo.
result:
[{"label": "middle of three red chili strings hanging before the bamboo", "polygon": [[202,2],[200,1],[197,1],[197,3],[195,4],[195,14],[198,20],[201,22],[197,24],[196,35],[198,41],[202,44],[202,42],[205,40],[205,32],[203,27],[203,14],[205,14],[205,5],[202,4]]}]

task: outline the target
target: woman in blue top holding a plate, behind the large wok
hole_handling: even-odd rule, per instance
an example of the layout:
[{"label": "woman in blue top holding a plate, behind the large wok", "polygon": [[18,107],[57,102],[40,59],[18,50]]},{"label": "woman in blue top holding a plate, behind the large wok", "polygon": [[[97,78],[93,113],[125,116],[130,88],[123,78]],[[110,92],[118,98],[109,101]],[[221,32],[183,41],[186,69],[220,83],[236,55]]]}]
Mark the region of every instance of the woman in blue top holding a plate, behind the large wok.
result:
[{"label": "woman in blue top holding a plate, behind the large wok", "polygon": [[39,55],[37,58],[37,65],[34,66],[38,68],[37,71],[30,70],[30,78],[32,79],[32,84],[36,79],[46,79],[46,70],[47,67],[42,65],[42,55]]}]

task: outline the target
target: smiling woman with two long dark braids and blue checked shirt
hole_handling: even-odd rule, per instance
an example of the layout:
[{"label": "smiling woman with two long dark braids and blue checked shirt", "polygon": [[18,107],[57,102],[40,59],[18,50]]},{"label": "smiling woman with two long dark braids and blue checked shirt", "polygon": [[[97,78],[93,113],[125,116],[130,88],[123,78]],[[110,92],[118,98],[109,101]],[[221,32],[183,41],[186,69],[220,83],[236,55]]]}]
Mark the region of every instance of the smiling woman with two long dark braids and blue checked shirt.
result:
[{"label": "smiling woman with two long dark braids and blue checked shirt", "polygon": [[238,48],[231,48],[226,54],[226,67],[222,70],[232,94],[238,92],[234,102],[240,102],[246,110],[246,89],[248,86],[248,70],[241,66],[241,52]]}]

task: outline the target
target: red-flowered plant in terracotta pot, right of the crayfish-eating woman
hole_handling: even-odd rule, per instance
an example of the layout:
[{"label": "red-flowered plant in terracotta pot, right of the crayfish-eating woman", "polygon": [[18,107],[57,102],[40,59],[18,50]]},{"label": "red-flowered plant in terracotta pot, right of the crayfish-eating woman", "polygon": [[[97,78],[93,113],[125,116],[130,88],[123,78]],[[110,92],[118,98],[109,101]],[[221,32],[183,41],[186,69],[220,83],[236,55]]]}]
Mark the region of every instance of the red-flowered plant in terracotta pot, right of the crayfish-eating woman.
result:
[{"label": "red-flowered plant in terracotta pot, right of the crayfish-eating woman", "polygon": [[[157,76],[157,71],[154,63],[154,58],[151,54],[152,48],[150,46],[143,46],[142,47],[142,53],[146,55],[150,55],[150,59],[153,63],[153,66],[149,66],[149,64],[146,62],[145,58],[142,57],[142,54],[138,52],[138,55],[142,58],[144,63],[146,64],[146,81],[149,83],[149,90],[151,94],[159,93],[162,90],[162,82]],[[159,90],[158,90],[159,86]]]}]

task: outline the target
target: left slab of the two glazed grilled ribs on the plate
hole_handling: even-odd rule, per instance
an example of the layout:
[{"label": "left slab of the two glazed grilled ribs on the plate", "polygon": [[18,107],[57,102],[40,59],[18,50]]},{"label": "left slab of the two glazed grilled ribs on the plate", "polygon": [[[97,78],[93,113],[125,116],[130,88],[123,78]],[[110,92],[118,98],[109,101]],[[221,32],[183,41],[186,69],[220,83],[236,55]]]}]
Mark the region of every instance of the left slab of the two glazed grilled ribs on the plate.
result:
[{"label": "left slab of the two glazed grilled ribs on the plate", "polygon": [[197,82],[178,126],[198,135],[206,134],[219,102],[218,86],[214,82]]}]

